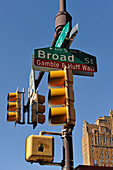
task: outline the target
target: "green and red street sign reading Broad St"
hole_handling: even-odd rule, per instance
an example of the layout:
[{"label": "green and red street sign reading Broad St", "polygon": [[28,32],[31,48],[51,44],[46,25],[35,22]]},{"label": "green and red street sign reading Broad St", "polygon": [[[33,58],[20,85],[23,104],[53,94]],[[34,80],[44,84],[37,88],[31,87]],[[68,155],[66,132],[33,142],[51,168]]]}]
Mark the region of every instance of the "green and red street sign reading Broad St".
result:
[{"label": "green and red street sign reading Broad St", "polygon": [[74,74],[97,72],[96,57],[79,50],[58,47],[35,49],[32,61],[34,70],[50,71],[67,66]]}]

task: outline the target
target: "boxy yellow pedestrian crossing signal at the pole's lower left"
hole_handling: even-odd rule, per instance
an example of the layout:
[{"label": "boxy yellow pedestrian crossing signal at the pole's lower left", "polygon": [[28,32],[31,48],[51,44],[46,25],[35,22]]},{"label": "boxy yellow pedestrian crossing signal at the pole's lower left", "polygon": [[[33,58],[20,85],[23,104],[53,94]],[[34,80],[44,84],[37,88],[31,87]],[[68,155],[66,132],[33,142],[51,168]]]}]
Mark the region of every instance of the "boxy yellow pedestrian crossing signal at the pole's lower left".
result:
[{"label": "boxy yellow pedestrian crossing signal at the pole's lower left", "polygon": [[31,135],[26,139],[25,159],[28,162],[53,162],[54,138]]}]

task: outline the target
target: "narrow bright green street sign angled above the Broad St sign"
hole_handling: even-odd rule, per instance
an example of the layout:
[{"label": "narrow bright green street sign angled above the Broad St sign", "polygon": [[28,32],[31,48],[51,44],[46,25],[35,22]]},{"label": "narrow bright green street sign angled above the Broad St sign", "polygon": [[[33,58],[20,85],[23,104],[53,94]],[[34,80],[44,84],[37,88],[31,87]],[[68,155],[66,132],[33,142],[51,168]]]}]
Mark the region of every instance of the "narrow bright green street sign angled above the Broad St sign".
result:
[{"label": "narrow bright green street sign angled above the Broad St sign", "polygon": [[69,22],[63,27],[59,37],[58,37],[58,40],[55,44],[55,47],[61,47],[62,43],[64,42],[67,34],[69,32]]}]

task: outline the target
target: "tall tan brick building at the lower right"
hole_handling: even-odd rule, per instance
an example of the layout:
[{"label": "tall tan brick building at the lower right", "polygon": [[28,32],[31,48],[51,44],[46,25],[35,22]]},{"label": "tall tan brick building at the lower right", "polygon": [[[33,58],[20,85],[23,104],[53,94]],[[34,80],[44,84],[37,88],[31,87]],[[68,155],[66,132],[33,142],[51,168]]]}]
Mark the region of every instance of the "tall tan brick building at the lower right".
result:
[{"label": "tall tan brick building at the lower right", "polygon": [[95,124],[84,121],[82,154],[84,165],[113,167],[113,110]]}]

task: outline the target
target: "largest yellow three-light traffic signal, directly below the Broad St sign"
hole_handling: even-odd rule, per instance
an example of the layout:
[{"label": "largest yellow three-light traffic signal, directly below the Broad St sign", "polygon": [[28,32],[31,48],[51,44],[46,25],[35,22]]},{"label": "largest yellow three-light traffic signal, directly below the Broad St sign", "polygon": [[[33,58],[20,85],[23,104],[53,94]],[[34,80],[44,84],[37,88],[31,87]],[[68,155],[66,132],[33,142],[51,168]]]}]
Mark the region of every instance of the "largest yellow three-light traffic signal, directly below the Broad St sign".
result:
[{"label": "largest yellow three-light traffic signal, directly below the Broad St sign", "polygon": [[74,126],[73,74],[69,68],[50,71],[48,76],[49,124]]}]

